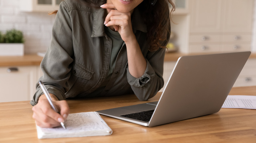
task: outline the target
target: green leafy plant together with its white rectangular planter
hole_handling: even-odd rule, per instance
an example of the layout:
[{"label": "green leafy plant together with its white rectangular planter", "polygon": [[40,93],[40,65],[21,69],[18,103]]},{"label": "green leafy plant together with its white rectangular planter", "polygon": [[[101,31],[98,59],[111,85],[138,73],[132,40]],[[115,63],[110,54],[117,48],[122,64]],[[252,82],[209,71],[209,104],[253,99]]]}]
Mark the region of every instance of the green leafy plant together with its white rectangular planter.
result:
[{"label": "green leafy plant together with its white rectangular planter", "polygon": [[23,56],[24,39],[21,31],[16,29],[0,33],[0,56]]}]

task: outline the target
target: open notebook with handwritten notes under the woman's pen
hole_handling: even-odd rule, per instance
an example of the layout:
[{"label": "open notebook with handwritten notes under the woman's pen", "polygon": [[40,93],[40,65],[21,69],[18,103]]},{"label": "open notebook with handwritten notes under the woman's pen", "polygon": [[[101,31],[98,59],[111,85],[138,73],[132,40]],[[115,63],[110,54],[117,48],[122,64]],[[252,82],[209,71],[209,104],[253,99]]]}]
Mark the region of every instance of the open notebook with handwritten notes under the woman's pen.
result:
[{"label": "open notebook with handwritten notes under the woman's pen", "polygon": [[66,130],[61,126],[41,128],[36,125],[37,137],[62,138],[111,135],[112,130],[97,112],[82,112],[69,114],[65,121]]}]

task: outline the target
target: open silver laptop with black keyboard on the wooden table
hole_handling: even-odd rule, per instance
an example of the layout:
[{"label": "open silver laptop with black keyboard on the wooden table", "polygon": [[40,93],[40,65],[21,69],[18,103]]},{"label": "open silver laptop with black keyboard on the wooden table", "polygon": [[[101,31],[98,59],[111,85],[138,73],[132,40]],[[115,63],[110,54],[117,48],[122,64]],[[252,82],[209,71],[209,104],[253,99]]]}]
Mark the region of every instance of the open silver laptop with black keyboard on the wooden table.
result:
[{"label": "open silver laptop with black keyboard on the wooden table", "polygon": [[158,102],[96,112],[149,127],[216,113],[250,53],[181,56]]}]

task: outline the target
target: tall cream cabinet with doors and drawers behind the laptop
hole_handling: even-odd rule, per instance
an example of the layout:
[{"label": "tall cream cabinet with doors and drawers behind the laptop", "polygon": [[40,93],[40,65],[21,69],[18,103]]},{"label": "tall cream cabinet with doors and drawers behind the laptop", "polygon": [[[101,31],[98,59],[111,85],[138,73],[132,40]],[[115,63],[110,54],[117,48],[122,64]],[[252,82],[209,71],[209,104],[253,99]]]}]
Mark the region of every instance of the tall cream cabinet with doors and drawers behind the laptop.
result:
[{"label": "tall cream cabinet with doors and drawers behind the laptop", "polygon": [[250,51],[254,0],[190,0],[187,5],[186,16],[174,15],[180,26],[172,24],[180,52]]}]

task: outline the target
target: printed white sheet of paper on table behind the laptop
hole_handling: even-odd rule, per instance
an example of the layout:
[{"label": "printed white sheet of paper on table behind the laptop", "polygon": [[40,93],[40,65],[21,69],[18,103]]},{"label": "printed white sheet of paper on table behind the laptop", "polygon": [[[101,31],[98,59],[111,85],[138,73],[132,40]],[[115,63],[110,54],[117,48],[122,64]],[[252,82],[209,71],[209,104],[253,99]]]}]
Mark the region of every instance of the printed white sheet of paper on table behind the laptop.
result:
[{"label": "printed white sheet of paper on table behind the laptop", "polygon": [[222,108],[256,109],[256,96],[228,95]]}]

